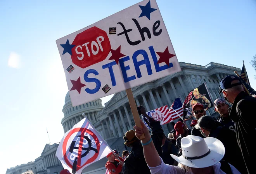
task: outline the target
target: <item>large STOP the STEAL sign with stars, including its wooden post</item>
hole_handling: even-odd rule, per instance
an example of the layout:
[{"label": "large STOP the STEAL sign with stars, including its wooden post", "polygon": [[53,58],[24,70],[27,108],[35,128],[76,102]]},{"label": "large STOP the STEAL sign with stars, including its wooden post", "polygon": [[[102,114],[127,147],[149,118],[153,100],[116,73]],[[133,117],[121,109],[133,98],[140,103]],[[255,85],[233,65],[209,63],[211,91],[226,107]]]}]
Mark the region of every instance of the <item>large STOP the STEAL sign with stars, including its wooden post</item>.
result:
[{"label": "large STOP the STEAL sign with stars, including its wooden post", "polygon": [[73,106],[179,72],[156,0],[144,0],[56,41]]}]

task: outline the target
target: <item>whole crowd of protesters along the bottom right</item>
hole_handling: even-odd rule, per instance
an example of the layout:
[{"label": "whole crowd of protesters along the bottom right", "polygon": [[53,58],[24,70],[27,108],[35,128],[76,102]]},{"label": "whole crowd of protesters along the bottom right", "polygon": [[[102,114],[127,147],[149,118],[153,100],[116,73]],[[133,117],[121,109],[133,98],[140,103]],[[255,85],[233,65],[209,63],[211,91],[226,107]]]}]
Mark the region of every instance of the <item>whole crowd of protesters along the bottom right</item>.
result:
[{"label": "whole crowd of protesters along the bottom right", "polygon": [[[200,103],[192,106],[192,130],[178,121],[168,137],[160,122],[150,118],[143,106],[139,111],[151,128],[140,120],[124,135],[125,145],[131,147],[119,157],[114,150],[108,155],[106,168],[111,174],[253,174],[256,162],[253,121],[256,98],[244,91],[237,76],[227,75],[220,80],[223,98],[214,101],[217,120],[206,115]],[[151,133],[151,135],[150,135]],[[144,134],[145,138],[140,138]]]}]

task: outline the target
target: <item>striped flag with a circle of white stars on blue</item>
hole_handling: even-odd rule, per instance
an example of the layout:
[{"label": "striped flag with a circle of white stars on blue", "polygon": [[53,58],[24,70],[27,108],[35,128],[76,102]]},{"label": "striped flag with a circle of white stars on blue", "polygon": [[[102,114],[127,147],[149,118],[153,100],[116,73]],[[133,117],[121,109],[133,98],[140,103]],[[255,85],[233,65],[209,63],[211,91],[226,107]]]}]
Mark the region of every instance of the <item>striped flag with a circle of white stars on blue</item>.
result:
[{"label": "striped flag with a circle of white stars on blue", "polygon": [[169,109],[169,116],[164,118],[163,124],[169,123],[175,119],[180,118],[179,115],[183,116],[183,108],[182,108],[182,102],[180,101],[180,98],[176,98],[173,104],[171,105]]}]

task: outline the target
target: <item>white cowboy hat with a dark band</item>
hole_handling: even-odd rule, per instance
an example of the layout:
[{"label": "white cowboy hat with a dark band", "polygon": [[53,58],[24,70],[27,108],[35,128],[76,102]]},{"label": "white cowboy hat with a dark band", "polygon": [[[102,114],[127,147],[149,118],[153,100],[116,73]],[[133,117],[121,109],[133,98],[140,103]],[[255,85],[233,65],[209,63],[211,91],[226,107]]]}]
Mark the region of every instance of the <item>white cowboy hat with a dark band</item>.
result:
[{"label": "white cowboy hat with a dark band", "polygon": [[188,135],[181,139],[182,156],[171,157],[188,167],[203,168],[218,163],[225,154],[225,147],[220,140]]}]

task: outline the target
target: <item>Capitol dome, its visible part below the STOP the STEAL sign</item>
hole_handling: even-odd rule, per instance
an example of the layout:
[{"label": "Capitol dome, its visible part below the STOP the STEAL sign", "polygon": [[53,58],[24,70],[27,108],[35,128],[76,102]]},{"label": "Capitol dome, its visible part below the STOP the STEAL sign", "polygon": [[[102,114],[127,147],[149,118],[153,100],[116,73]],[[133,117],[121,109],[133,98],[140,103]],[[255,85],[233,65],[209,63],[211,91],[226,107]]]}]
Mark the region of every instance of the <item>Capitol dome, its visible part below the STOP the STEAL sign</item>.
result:
[{"label": "Capitol dome, its visible part below the STOP the STEAL sign", "polygon": [[76,123],[81,121],[84,117],[84,113],[91,123],[96,123],[98,120],[99,111],[103,109],[101,99],[93,100],[88,103],[81,104],[79,106],[73,107],[71,104],[71,99],[69,92],[67,92],[65,97],[65,104],[63,106],[62,112],[64,113],[64,118],[61,120],[64,132],[66,133],[70,130]]}]

